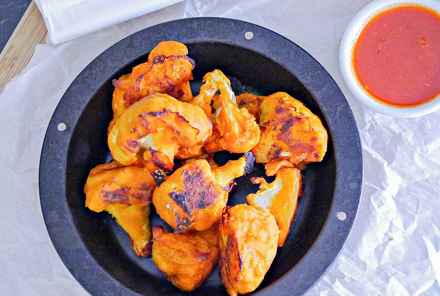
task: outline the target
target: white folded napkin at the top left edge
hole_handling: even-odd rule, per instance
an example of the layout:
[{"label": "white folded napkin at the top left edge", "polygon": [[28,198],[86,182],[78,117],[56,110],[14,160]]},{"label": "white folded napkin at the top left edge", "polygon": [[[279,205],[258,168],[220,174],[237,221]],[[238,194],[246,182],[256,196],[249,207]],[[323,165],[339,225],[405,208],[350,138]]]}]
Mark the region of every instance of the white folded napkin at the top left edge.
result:
[{"label": "white folded napkin at the top left edge", "polygon": [[59,44],[183,0],[35,0]]}]

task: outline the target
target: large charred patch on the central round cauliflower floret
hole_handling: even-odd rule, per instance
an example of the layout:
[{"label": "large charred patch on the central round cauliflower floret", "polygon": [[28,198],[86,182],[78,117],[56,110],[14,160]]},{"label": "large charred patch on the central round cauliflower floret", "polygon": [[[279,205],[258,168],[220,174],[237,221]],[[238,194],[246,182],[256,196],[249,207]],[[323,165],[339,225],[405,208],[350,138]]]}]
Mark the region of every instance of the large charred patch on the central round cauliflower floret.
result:
[{"label": "large charred patch on the central round cauliflower floret", "polygon": [[198,168],[183,170],[183,190],[168,195],[192,218],[194,210],[206,208],[217,200],[218,192],[203,171]]}]

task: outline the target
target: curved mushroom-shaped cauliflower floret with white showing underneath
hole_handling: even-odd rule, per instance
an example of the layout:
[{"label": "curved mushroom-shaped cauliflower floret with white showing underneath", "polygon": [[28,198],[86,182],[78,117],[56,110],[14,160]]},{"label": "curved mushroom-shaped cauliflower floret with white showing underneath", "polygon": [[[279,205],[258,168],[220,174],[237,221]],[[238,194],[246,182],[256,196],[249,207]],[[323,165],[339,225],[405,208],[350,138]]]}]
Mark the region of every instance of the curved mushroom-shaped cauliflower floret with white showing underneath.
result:
[{"label": "curved mushroom-shaped cauliflower floret with white showing underneath", "polygon": [[201,145],[210,135],[211,123],[200,108],[154,93],[121,114],[108,142],[113,159],[123,165],[136,163],[142,149],[150,171],[171,170],[179,148]]}]

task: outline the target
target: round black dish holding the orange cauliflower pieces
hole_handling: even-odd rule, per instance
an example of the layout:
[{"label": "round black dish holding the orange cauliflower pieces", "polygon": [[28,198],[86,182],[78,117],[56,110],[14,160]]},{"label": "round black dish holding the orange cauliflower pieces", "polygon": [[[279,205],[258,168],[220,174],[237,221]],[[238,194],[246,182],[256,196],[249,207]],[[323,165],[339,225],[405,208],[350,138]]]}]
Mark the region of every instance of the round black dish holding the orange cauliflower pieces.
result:
[{"label": "round black dish holding the orange cauliflower pieces", "polygon": [[[251,40],[246,32],[253,32]],[[128,235],[109,214],[84,206],[88,172],[111,159],[111,80],[144,62],[163,40],[188,46],[196,61],[193,90],[215,68],[229,75],[236,93],[286,91],[323,120],[329,131],[324,160],[303,171],[304,193],[284,247],[252,295],[302,295],[330,268],[357,213],[362,153],[347,100],[329,73],[304,49],[255,24],[221,18],[183,19],[137,32],[92,61],[67,89],[47,128],[40,163],[40,199],[50,238],[67,269],[92,295],[226,295],[215,268],[192,293],[175,288],[151,258],[137,257]],[[65,123],[65,131],[57,125]],[[219,153],[224,162],[234,158]],[[264,175],[257,166],[250,176]],[[238,180],[228,204],[245,202],[258,187]],[[152,224],[163,221],[152,210]],[[337,218],[338,212],[346,219]],[[344,216],[340,214],[339,217]]]}]

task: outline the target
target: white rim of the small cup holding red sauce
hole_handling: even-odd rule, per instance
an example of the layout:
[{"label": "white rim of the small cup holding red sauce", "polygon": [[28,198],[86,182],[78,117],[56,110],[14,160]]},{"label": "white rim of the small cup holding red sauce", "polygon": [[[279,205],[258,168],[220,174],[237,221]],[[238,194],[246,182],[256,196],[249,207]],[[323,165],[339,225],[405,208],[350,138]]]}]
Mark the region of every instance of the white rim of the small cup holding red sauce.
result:
[{"label": "white rim of the small cup holding red sauce", "polygon": [[347,85],[348,89],[350,90],[352,95],[364,106],[378,113],[388,116],[408,118],[426,115],[439,110],[440,96],[436,97],[430,102],[410,108],[399,108],[385,105],[378,102],[377,100],[372,98],[366,91],[364,91],[364,89],[360,86],[357,78],[355,77],[352,68],[353,47],[364,26],[372,17],[374,17],[378,13],[402,4],[419,4],[429,7],[440,13],[439,0],[375,0],[369,3],[353,17],[352,21],[345,29],[344,35],[341,39],[341,45],[339,47],[339,67],[341,68],[342,77],[344,78],[345,84]]}]

